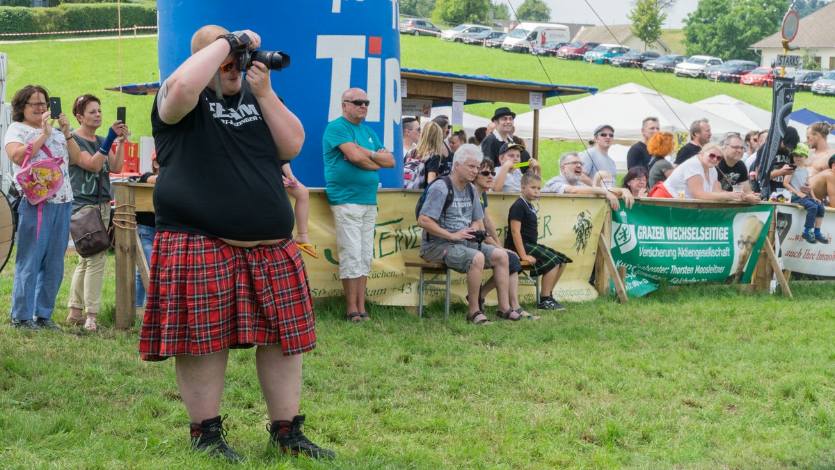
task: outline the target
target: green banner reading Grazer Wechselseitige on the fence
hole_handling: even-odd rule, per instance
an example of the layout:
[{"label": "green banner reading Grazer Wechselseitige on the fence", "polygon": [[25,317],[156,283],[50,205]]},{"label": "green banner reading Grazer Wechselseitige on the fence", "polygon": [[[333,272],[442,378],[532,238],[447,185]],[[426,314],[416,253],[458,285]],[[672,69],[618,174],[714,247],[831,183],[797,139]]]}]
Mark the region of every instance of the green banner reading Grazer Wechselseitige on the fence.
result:
[{"label": "green banner reading Grazer Wechselseitige on the fence", "polygon": [[610,247],[640,297],[667,284],[751,282],[771,206],[690,209],[635,202],[612,211]]}]

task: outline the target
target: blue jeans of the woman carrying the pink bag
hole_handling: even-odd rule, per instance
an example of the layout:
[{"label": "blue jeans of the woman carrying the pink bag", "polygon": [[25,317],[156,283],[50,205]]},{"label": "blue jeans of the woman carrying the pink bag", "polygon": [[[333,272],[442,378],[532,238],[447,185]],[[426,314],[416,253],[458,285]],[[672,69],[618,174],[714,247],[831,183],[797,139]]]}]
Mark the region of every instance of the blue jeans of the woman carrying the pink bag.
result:
[{"label": "blue jeans of the woman carrying the pink bag", "polygon": [[72,205],[72,202],[44,202],[38,233],[38,206],[29,204],[26,199],[20,203],[10,312],[13,319],[52,317],[63,280],[63,256],[69,242]]}]

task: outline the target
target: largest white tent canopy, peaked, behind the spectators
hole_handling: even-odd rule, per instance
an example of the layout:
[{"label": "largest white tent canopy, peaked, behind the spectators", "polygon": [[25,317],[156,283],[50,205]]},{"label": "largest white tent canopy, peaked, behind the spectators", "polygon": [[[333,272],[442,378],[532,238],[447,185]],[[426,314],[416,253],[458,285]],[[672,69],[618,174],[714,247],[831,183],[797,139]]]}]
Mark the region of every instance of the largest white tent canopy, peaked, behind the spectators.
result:
[{"label": "largest white tent canopy, peaked, behind the spectators", "polygon": [[[750,130],[733,120],[725,119],[671,96],[660,95],[655,90],[639,84],[629,83],[600,91],[596,95],[574,100],[565,105],[553,105],[540,110],[539,138],[591,139],[598,125],[608,124],[615,128],[616,141],[635,142],[640,140],[640,125],[648,116],[657,117],[661,130],[668,132],[687,132],[693,121],[702,118],[710,121],[713,135],[722,135],[730,131],[744,135]],[[514,124],[516,135],[523,139],[532,138],[534,112],[516,116]]]}]

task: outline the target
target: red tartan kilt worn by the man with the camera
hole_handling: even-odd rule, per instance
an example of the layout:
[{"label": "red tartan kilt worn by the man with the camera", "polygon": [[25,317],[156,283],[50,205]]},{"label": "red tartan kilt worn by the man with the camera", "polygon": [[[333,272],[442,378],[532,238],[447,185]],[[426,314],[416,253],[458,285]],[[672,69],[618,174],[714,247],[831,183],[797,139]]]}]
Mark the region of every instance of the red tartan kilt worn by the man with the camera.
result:
[{"label": "red tartan kilt worn by the man with the camera", "polygon": [[201,235],[157,233],[139,331],[142,359],[254,345],[281,345],[284,355],[316,347],[313,304],[296,243],[240,248]]}]

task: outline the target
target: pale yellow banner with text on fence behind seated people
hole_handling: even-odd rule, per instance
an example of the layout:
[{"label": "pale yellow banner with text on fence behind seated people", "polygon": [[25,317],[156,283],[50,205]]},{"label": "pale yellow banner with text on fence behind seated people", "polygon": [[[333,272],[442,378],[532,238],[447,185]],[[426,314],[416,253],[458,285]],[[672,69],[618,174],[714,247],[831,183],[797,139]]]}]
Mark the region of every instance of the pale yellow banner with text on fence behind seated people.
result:
[{"label": "pale yellow banner with text on fence behind seated people", "polygon": [[[311,190],[310,238],[319,258],[305,255],[307,274],[314,297],[342,297],[339,279],[339,253],[333,214],[322,190]],[[417,306],[418,268],[405,268],[407,261],[422,261],[415,204],[420,192],[382,190],[377,193],[377,223],[374,228],[374,260],[368,276],[367,299],[377,304]],[[501,242],[507,231],[508,211],[519,196],[493,193],[488,196],[488,212]],[[565,253],[574,260],[566,267],[554,289],[559,300],[581,301],[597,297],[589,284],[597,256],[597,240],[605,225],[606,202],[598,197],[543,195],[539,200],[539,243]],[[488,278],[489,272],[484,273]],[[453,299],[467,294],[466,276],[453,273]],[[534,287],[519,287],[523,301],[534,299]],[[492,299],[490,298],[492,297]],[[495,302],[495,294],[487,303]]]}]

